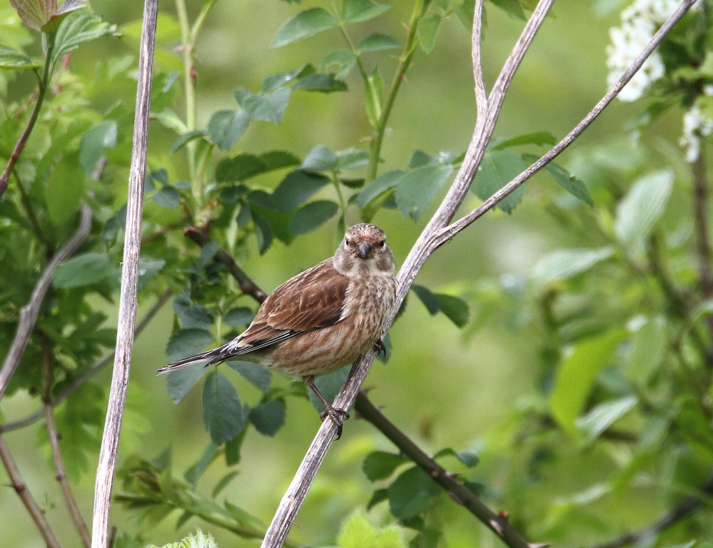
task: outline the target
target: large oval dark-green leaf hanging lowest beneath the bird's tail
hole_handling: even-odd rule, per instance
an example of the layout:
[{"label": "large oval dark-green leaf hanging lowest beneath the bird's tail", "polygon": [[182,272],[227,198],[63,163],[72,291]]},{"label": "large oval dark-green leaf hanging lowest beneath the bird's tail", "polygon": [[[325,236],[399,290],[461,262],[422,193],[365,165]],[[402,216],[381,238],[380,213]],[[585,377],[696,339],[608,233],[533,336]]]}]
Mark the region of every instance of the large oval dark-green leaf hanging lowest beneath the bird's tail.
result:
[{"label": "large oval dark-green leaf hanging lowest beneath the bird's tail", "polygon": [[213,443],[221,445],[228,442],[243,430],[243,405],[236,388],[223,373],[214,370],[206,377],[201,402],[203,422],[211,432]]}]

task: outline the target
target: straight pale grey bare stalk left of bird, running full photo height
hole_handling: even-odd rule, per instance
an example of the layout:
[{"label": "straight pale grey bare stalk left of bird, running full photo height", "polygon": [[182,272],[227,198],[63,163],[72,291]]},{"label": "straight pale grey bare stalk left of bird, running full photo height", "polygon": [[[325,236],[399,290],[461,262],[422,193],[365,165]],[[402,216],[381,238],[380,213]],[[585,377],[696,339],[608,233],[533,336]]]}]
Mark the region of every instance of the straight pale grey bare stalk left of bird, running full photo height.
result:
[{"label": "straight pale grey bare stalk left of bird, running full photo height", "polygon": [[158,0],[146,0],[143,8],[141,52],[138,60],[138,85],[136,86],[136,114],[133,126],[133,150],[128,181],[126,232],[124,234],[123,267],[121,268],[121,293],[119,297],[118,326],[116,328],[116,356],[114,357],[111,390],[106,410],[106,421],[101,438],[101,450],[94,487],[94,512],[91,529],[92,548],[106,548],[111,487],[116,451],[121,432],[121,419],[126,404],[128,373],[131,366],[133,333],[136,324],[138,293],[138,257],[141,252],[141,216],[143,213],[143,177],[146,172],[146,145],[148,142],[148,113],[151,100],[151,73],[153,49],[156,40]]}]

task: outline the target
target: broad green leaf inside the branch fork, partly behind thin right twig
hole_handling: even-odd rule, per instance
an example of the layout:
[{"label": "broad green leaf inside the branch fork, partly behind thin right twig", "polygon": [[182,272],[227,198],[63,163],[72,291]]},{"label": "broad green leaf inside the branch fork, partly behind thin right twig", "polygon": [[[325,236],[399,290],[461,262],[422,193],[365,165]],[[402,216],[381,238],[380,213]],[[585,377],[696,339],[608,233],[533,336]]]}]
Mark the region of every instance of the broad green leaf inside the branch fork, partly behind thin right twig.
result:
[{"label": "broad green leaf inside the branch fork, partly behind thin right twig", "polygon": [[[487,200],[500,190],[512,179],[520,175],[527,169],[527,163],[520,154],[510,151],[491,151],[485,153],[485,157],[475,173],[470,190],[481,200]],[[522,200],[525,193],[525,186],[520,185],[506,196],[497,207],[511,213]]]}]

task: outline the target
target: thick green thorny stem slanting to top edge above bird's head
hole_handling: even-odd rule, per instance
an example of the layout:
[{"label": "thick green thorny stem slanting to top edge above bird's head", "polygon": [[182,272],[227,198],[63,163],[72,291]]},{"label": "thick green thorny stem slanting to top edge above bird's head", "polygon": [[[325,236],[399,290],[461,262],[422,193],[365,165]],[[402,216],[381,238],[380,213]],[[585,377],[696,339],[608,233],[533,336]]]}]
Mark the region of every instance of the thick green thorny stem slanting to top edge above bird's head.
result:
[{"label": "thick green thorny stem slanting to top edge above bird's head", "polygon": [[[377,126],[374,128],[374,136],[371,141],[369,151],[369,164],[366,168],[367,183],[376,177],[376,173],[379,168],[379,159],[381,157],[381,146],[384,141],[384,134],[386,133],[386,124],[388,123],[391,108],[394,106],[401,83],[404,81],[405,73],[411,66],[411,61],[413,60],[413,55],[416,51],[415,40],[418,22],[424,16],[429,4],[430,0],[417,0],[415,6],[413,7],[413,14],[411,14],[411,19],[408,23],[406,43],[403,46],[403,53],[399,58],[398,68],[396,69],[391,87],[389,88],[386,98],[384,99],[381,116],[379,116]],[[365,83],[368,82],[365,81]],[[366,89],[365,92],[369,93],[369,89]]]}]

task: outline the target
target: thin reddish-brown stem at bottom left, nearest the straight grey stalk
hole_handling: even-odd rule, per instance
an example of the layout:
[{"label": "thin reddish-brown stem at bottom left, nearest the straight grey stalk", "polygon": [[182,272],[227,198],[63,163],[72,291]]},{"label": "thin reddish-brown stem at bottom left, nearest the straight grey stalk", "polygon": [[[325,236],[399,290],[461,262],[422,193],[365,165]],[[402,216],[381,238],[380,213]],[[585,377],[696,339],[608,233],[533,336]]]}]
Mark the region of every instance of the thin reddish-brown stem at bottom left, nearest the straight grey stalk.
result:
[{"label": "thin reddish-brown stem at bottom left, nearest the straight grey stalk", "polygon": [[72,494],[71,487],[69,487],[69,481],[67,480],[66,468],[64,467],[64,458],[62,457],[61,447],[59,447],[59,431],[57,430],[57,423],[54,420],[54,407],[52,407],[52,402],[50,399],[50,394],[52,390],[52,381],[50,375],[50,362],[52,359],[51,348],[49,345],[49,338],[46,335],[42,335],[42,378],[44,383],[44,416],[45,425],[47,428],[47,435],[49,437],[49,445],[52,448],[52,460],[54,460],[54,468],[57,472],[56,480],[59,482],[59,487],[64,495],[64,501],[67,504],[67,509],[69,509],[69,514],[74,521],[74,526],[79,532],[79,537],[81,537],[81,542],[86,548],[91,547],[91,536],[89,534],[89,529],[86,527],[84,518],[79,511],[79,506],[74,499],[74,494]]}]

